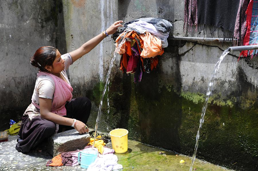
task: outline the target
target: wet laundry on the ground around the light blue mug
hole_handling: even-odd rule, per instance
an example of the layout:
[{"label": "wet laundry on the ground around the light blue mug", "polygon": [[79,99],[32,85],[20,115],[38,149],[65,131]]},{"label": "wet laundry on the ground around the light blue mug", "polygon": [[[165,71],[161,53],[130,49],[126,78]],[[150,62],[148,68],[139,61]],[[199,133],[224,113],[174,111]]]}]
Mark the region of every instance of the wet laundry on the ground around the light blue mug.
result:
[{"label": "wet laundry on the ground around the light blue mug", "polygon": [[[70,152],[63,152],[52,158],[52,160],[48,160],[46,166],[76,166],[78,163],[78,154],[80,151],[83,151],[87,148],[92,148],[94,141],[94,132],[91,131],[89,134],[91,135],[91,140],[87,146],[85,146],[82,150],[75,150]],[[118,164],[118,158],[114,154],[115,150],[105,147],[105,144],[109,141],[109,138],[105,134],[97,134],[95,144],[93,150],[98,151],[97,159],[89,165],[87,170],[114,170],[114,169],[122,169],[123,166]]]}]

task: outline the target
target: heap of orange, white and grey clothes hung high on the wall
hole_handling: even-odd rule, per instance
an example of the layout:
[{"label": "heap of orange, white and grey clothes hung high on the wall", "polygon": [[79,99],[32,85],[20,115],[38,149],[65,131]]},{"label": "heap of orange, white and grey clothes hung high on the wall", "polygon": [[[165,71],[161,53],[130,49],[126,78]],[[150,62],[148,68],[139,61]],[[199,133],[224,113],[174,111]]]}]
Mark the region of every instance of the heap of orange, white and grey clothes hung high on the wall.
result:
[{"label": "heap of orange, white and grey clothes hung high on the wall", "polygon": [[125,23],[115,41],[116,51],[122,55],[120,70],[134,73],[134,82],[140,82],[143,73],[150,73],[157,67],[157,56],[168,46],[171,28],[169,21],[158,18],[140,18]]}]

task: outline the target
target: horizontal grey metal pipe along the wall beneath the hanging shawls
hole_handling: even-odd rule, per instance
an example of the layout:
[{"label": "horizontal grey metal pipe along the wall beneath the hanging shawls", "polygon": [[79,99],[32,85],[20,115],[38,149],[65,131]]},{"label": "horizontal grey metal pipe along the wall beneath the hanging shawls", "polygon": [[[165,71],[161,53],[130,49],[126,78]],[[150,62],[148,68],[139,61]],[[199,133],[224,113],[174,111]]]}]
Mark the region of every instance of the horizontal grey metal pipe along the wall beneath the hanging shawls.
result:
[{"label": "horizontal grey metal pipe along the wall beneath the hanging shawls", "polygon": [[187,40],[187,41],[219,41],[219,42],[232,42],[233,39],[223,38],[210,38],[210,37],[184,37],[184,36],[172,36],[169,39],[174,40]]}]

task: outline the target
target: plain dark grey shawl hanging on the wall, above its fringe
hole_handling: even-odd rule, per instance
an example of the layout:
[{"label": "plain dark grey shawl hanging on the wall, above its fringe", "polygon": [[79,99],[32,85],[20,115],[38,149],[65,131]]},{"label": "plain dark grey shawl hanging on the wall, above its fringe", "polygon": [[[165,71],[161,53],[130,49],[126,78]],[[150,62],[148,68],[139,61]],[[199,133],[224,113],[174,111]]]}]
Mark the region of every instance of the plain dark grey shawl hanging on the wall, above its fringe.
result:
[{"label": "plain dark grey shawl hanging on the wall, above its fringe", "polygon": [[198,24],[234,31],[239,0],[198,0]]}]

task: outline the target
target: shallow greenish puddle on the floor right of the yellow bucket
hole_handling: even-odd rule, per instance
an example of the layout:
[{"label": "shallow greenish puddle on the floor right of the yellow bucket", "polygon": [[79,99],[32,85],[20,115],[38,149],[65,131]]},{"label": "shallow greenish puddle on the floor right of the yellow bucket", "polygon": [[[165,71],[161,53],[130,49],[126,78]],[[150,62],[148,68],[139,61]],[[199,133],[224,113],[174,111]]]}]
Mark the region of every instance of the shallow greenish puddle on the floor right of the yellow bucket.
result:
[{"label": "shallow greenish puddle on the floor right of the yellow bucket", "polygon": [[[162,154],[160,154],[160,152]],[[118,157],[118,164],[123,165],[122,171],[126,170],[156,170],[156,171],[185,171],[191,166],[191,157],[170,151],[147,146],[138,141],[128,140],[128,152],[123,154],[115,153]],[[186,163],[180,164],[184,160]],[[199,159],[195,160],[193,168],[196,171],[233,171],[217,166]],[[194,170],[194,169],[193,169]]]}]

